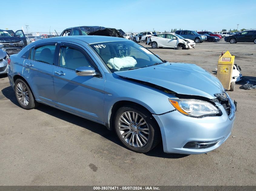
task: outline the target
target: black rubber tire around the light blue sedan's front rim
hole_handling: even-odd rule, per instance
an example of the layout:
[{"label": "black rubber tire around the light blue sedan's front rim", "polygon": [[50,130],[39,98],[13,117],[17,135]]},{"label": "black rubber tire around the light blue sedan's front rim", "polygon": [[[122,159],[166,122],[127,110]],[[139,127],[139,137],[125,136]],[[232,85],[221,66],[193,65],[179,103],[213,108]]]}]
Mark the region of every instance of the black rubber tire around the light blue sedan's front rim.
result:
[{"label": "black rubber tire around the light blue sedan's front rim", "polygon": [[[128,112],[128,111],[138,113],[141,117],[144,118],[144,120],[146,122],[149,135],[148,135],[148,142],[144,146],[141,146],[141,147],[137,147],[135,145],[131,146],[121,136],[121,133],[120,133],[119,127],[118,127],[119,118],[121,117],[121,115],[123,113]],[[150,112],[148,112],[145,109],[142,109],[141,107],[137,107],[137,106],[133,106],[133,105],[127,105],[127,106],[119,108],[117,110],[116,114],[115,114],[114,121],[115,121],[115,133],[116,133],[117,137],[119,138],[119,140],[122,142],[122,144],[126,148],[128,148],[132,151],[135,151],[135,152],[138,152],[138,153],[146,153],[146,152],[150,151],[151,149],[155,148],[155,146],[158,145],[158,143],[161,140],[160,128],[159,128],[157,122],[155,121],[154,117],[152,116],[152,114]],[[132,127],[131,127],[131,129],[132,129]],[[128,134],[129,134],[130,130],[128,129],[126,132],[128,132]],[[135,133],[135,132],[133,132],[133,133]],[[128,134],[126,134],[126,135],[128,135]],[[132,134],[132,130],[131,130],[131,134]],[[136,140],[137,140],[137,138],[136,138]],[[127,138],[127,141],[128,141],[128,138]]]}]

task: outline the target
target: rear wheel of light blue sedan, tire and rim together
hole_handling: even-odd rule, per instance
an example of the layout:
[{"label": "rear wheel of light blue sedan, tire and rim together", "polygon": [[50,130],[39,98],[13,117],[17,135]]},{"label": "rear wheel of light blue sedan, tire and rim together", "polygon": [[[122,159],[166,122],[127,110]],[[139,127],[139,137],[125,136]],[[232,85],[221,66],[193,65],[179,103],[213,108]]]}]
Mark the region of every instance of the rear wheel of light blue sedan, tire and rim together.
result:
[{"label": "rear wheel of light blue sedan, tire and rim together", "polygon": [[26,110],[34,109],[39,103],[36,102],[28,84],[22,79],[17,79],[14,85],[15,96],[20,106]]}]

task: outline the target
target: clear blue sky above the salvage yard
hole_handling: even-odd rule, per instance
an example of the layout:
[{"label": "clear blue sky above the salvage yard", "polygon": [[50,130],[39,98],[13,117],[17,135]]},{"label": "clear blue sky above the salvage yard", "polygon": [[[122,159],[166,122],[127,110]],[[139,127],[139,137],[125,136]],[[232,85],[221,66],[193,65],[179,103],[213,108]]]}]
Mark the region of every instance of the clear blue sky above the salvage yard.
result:
[{"label": "clear blue sky above the salvage yard", "polygon": [[151,0],[62,0],[3,1],[8,9],[2,15],[0,29],[29,32],[62,32],[75,26],[103,26],[125,32],[171,29],[238,30],[256,29],[256,0],[151,1]]}]

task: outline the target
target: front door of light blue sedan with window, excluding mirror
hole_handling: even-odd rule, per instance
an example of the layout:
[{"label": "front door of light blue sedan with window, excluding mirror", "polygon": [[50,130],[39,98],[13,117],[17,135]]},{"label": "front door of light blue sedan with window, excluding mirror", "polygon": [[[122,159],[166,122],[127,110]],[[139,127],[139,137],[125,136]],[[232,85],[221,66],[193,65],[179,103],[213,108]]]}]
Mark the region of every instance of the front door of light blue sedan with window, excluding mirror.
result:
[{"label": "front door of light blue sedan with window, excluding mirror", "polygon": [[[101,75],[94,58],[81,45],[61,43],[58,51],[58,65],[54,67],[57,106],[103,122],[105,75]],[[82,66],[95,68],[99,75],[78,76],[75,69]]]}]

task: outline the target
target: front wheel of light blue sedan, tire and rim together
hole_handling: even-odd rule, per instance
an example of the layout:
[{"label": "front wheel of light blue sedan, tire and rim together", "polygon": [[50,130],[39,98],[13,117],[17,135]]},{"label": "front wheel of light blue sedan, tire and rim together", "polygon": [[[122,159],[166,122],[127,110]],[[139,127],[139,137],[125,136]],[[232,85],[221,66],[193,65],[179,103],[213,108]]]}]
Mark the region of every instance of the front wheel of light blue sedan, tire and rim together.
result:
[{"label": "front wheel of light blue sedan, tire and rim together", "polygon": [[115,115],[115,132],[126,148],[146,153],[160,141],[160,130],[151,113],[136,106],[125,106]]}]

